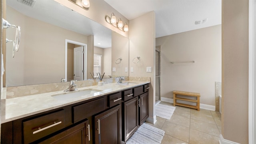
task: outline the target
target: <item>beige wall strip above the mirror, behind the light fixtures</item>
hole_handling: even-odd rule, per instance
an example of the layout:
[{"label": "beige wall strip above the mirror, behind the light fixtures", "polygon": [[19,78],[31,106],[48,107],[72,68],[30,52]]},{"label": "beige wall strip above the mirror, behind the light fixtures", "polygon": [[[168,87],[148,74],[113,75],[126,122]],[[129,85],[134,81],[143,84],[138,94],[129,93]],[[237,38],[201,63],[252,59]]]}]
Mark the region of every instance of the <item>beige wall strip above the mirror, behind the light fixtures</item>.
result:
[{"label": "beige wall strip above the mirror, behind the light fixtures", "polygon": [[126,38],[129,37],[129,32],[123,32],[118,28],[112,26],[112,24],[108,24],[105,20],[106,16],[111,16],[112,13],[115,14],[116,18],[121,18],[123,22],[126,22],[129,26],[129,20],[122,16],[118,11],[116,11],[112,6],[106,3],[104,0],[90,0],[90,8],[88,10],[84,10],[83,8],[77,6],[76,4],[70,2],[69,0],[54,0],[76,12],[102,24],[103,26],[114,30],[115,32],[125,36]]}]

